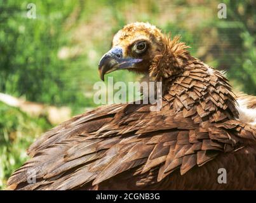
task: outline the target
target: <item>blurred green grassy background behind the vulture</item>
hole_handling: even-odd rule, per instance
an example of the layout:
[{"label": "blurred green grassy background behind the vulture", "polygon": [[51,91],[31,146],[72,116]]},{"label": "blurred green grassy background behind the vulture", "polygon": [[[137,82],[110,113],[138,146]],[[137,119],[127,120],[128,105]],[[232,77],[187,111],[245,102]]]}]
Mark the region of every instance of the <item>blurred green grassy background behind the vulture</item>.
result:
[{"label": "blurred green grassy background behind the vulture", "polygon": [[[192,55],[227,70],[236,91],[256,95],[255,2],[0,0],[0,93],[31,101],[25,103],[29,109],[36,103],[43,111],[65,107],[74,115],[95,107],[98,60],[116,31],[143,21],[180,34]],[[27,18],[29,3],[36,5],[35,19]],[[217,16],[219,3],[227,6],[226,19]],[[112,75],[137,79],[125,71]],[[47,111],[30,114],[0,101],[0,188],[27,160],[32,141],[57,123]]]}]

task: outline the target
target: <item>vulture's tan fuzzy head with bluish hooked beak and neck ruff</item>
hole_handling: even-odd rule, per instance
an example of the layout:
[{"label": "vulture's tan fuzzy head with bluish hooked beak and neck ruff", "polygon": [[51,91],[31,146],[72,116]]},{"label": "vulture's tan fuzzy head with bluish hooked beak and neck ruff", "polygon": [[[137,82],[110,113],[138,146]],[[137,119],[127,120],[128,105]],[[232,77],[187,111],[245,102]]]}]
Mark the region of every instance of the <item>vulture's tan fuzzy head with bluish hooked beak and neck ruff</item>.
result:
[{"label": "vulture's tan fuzzy head with bluish hooked beak and neck ruff", "polygon": [[187,65],[188,46],[171,39],[154,25],[135,22],[119,30],[112,41],[112,48],[98,64],[100,77],[115,70],[131,70],[148,75],[152,81],[162,81],[179,74]]}]

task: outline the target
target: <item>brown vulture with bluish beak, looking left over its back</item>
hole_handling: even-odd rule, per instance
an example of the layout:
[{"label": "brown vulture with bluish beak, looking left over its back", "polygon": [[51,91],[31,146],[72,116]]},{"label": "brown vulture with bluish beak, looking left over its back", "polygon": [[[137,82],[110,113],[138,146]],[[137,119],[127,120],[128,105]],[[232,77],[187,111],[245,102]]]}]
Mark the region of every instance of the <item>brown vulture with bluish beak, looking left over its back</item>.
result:
[{"label": "brown vulture with bluish beak, looking left over its back", "polygon": [[116,103],[63,122],[30,145],[8,189],[256,189],[256,97],[235,95],[187,48],[150,23],[119,30],[101,79],[125,69],[161,82],[161,107]]}]

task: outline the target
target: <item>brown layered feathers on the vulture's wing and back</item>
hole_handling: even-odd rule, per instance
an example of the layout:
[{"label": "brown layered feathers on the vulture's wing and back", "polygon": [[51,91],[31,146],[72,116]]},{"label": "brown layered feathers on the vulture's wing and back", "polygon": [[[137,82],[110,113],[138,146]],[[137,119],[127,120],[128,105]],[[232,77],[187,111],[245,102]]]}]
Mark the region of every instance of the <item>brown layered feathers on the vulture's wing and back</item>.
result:
[{"label": "brown layered feathers on the vulture's wing and back", "polygon": [[[219,163],[213,161],[217,156],[226,160],[226,154],[255,146],[256,129],[236,119],[226,79],[207,71],[203,63],[191,63],[179,82],[170,83],[158,112],[151,112],[151,105],[111,105],[64,122],[30,146],[32,159],[13,173],[8,185],[97,189],[123,181],[126,188],[166,188],[167,177],[176,180],[177,171],[182,177],[193,170],[203,174],[206,163]],[[31,170],[36,172],[34,184],[27,183]],[[176,181],[168,181],[169,186],[174,188]]]}]

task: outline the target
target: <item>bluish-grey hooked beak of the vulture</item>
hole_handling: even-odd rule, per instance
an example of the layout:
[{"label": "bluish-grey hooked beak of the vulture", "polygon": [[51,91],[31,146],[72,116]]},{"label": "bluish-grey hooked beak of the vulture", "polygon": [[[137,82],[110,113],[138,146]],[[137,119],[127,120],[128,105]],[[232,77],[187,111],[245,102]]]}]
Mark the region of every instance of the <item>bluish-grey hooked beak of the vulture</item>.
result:
[{"label": "bluish-grey hooked beak of the vulture", "polygon": [[142,59],[123,58],[123,50],[116,46],[105,53],[105,55],[102,56],[100,63],[98,63],[100,79],[104,81],[104,75],[109,74],[115,70],[134,68],[134,65],[139,62],[142,62]]}]

